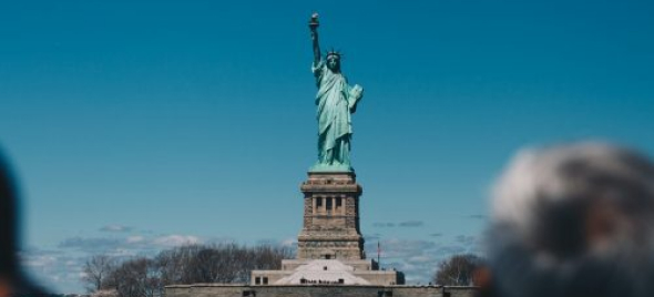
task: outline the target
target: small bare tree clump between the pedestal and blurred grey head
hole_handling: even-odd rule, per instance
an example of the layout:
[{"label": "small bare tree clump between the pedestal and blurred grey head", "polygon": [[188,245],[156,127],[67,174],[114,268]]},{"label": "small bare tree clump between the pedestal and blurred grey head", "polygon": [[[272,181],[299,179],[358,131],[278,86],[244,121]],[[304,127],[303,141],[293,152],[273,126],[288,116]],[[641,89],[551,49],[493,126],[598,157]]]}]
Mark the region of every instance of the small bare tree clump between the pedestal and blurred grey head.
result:
[{"label": "small bare tree clump between the pedestal and blurred grey head", "polygon": [[474,270],[482,264],[482,259],[472,254],[454,255],[438,265],[433,281],[446,286],[474,285]]}]

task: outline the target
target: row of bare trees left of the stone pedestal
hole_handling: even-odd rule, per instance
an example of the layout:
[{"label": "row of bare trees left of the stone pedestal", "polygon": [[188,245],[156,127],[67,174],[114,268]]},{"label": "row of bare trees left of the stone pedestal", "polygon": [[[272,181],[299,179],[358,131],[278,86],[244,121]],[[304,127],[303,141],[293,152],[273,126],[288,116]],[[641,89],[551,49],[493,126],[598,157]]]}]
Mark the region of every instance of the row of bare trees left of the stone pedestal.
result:
[{"label": "row of bare trees left of the stone pedestal", "polygon": [[95,295],[157,297],[174,284],[247,284],[251,270],[279,269],[284,258],[293,258],[290,248],[237,244],[188,245],[126,259],[95,255],[84,263],[82,280]]}]

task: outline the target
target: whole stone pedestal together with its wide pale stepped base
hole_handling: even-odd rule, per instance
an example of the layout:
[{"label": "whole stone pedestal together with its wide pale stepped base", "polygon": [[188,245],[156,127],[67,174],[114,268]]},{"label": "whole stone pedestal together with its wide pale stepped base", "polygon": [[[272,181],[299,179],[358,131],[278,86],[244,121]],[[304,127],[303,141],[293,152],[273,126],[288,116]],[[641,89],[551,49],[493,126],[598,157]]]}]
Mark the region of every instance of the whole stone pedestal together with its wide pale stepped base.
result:
[{"label": "whole stone pedestal together with its wide pale stepped base", "polygon": [[[280,270],[253,270],[252,286],[396,286],[403,277],[366,259],[359,229],[361,186],[355,173],[310,171],[300,186],[304,224],[296,259]],[[245,295],[244,295],[245,296]]]}]

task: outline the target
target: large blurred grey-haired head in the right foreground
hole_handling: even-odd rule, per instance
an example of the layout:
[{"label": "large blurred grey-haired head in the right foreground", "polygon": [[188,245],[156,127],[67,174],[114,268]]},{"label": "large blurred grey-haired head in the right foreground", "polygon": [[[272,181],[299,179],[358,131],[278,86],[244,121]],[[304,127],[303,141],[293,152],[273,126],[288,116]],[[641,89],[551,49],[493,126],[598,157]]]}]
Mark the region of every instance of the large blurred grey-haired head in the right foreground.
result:
[{"label": "large blurred grey-haired head in the right foreground", "polygon": [[606,143],[523,151],[488,239],[486,296],[654,296],[654,165]]}]

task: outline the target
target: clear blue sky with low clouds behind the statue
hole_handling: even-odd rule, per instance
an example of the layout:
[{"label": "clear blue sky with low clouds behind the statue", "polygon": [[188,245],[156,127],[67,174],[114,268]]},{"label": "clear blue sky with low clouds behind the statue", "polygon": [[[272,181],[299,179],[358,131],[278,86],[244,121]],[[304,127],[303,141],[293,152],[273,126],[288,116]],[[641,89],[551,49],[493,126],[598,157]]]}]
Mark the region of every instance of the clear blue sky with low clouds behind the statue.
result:
[{"label": "clear blue sky with low clouds behind the statue", "polygon": [[647,1],[0,3],[0,144],[29,270],[81,291],[96,253],[293,244],[316,152],[307,20],[365,88],[352,165],[382,265],[428,281],[479,252],[519,147],[654,151]]}]

